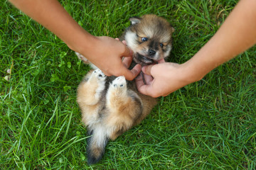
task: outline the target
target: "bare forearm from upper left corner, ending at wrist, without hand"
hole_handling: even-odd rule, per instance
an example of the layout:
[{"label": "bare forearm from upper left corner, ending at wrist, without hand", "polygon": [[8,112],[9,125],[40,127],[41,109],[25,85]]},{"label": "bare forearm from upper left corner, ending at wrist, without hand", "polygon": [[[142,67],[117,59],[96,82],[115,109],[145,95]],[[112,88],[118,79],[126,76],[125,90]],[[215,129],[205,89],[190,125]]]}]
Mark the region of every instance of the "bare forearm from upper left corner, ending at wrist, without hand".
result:
[{"label": "bare forearm from upper left corner, ending at wrist, without hand", "polygon": [[33,20],[41,23],[41,25],[57,35],[72,50],[80,52],[84,48],[90,48],[92,43],[85,44],[84,40],[89,42],[95,40],[95,37],[81,28],[57,0],[9,1],[33,18]]}]

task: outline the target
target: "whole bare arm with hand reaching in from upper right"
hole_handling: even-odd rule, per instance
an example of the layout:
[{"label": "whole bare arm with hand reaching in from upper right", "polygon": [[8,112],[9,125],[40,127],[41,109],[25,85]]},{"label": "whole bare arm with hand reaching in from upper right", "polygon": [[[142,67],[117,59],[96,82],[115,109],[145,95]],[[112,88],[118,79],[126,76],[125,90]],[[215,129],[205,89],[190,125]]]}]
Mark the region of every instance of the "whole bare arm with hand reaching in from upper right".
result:
[{"label": "whole bare arm with hand reaching in from upper right", "polygon": [[[206,45],[183,64],[160,63],[143,67],[153,77],[137,79],[142,94],[166,96],[187,84],[201,80],[208,72],[256,43],[256,1],[241,0]],[[162,74],[166,72],[166,74]]]}]

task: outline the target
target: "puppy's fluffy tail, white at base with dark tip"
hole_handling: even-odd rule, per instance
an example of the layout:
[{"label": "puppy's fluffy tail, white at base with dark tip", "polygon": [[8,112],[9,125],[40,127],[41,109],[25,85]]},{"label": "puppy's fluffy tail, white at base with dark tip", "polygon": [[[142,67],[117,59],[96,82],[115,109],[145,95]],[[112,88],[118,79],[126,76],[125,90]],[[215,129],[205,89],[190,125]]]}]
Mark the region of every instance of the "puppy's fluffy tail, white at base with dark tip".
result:
[{"label": "puppy's fluffy tail, white at base with dark tip", "polygon": [[90,137],[87,140],[87,162],[88,164],[97,164],[105,153],[105,147],[109,138],[104,128],[97,128],[90,131]]}]

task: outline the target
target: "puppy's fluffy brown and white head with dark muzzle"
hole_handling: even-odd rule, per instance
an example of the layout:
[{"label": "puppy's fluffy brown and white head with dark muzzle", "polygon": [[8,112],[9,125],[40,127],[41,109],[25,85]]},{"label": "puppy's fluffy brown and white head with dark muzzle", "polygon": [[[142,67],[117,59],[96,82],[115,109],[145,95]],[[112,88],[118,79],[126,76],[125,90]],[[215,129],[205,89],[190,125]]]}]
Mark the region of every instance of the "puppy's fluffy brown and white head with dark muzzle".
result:
[{"label": "puppy's fluffy brown and white head with dark muzzle", "polygon": [[132,17],[129,21],[131,26],[124,39],[134,52],[134,62],[147,65],[169,56],[174,28],[168,21],[155,15]]}]

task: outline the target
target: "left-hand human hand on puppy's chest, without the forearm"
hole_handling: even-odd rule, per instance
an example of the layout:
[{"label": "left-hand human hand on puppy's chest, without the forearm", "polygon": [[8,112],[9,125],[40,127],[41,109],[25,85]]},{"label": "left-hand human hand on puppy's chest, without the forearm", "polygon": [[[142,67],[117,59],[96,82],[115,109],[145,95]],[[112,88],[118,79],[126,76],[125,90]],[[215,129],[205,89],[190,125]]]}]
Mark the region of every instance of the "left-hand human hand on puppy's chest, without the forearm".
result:
[{"label": "left-hand human hand on puppy's chest, without the forearm", "polygon": [[[137,64],[132,70],[128,67],[132,63],[132,51],[124,45],[125,43],[110,37],[96,37],[95,45],[90,51],[83,52],[92,64],[95,64],[107,76],[124,76],[132,80],[139,72],[141,66]],[[124,60],[122,61],[122,57]]]}]

